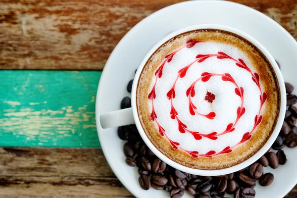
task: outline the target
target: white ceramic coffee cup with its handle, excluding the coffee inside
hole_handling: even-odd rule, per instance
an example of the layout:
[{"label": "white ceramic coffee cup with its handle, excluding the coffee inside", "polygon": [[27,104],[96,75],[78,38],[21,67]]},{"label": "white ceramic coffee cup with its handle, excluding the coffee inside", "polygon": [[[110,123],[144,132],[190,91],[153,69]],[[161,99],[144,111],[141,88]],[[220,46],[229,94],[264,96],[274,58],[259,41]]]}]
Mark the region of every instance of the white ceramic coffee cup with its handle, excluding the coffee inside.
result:
[{"label": "white ceramic coffee cup with its handle, excluding the coffee inside", "polygon": [[[162,44],[164,44],[166,41],[170,40],[171,38],[175,37],[176,35],[182,34],[184,32],[192,31],[192,30],[198,30],[198,29],[217,29],[217,30],[224,30],[228,32],[235,33],[245,39],[247,39],[249,42],[251,42],[254,46],[256,46],[268,59],[268,61],[271,63],[275,74],[278,79],[279,87],[280,87],[280,97],[281,97],[281,105],[280,105],[280,112],[278,115],[278,122],[275,126],[275,129],[268,139],[268,141],[265,143],[265,145],[258,150],[253,156],[248,158],[247,160],[243,161],[242,163],[239,163],[237,165],[234,165],[229,168],[225,169],[219,169],[219,170],[201,170],[201,169],[194,169],[190,167],[183,166],[175,161],[172,161],[168,157],[166,157],[164,154],[162,154],[157,148],[153,146],[153,144],[149,141],[147,135],[145,134],[142,125],[140,123],[140,119],[138,117],[137,113],[137,105],[136,105],[136,89],[137,89],[137,84],[138,80],[140,77],[140,74],[142,72],[143,67],[145,66],[148,58],[151,56],[151,54],[158,49]],[[161,41],[159,41],[152,49],[148,51],[148,54],[145,56],[143,59],[142,63],[140,64],[139,68],[137,69],[137,72],[134,77],[133,81],[133,86],[132,86],[132,96],[131,96],[131,108],[126,108],[126,109],[121,109],[121,110],[116,110],[112,112],[108,112],[106,114],[100,115],[100,125],[101,127],[104,128],[111,128],[111,127],[116,127],[116,126],[122,126],[122,125],[127,125],[127,124],[136,124],[136,127],[144,140],[145,144],[148,146],[148,148],[157,156],[159,157],[162,161],[164,161],[166,164],[195,175],[202,175],[202,176],[216,176],[216,175],[225,175],[229,174],[232,172],[236,172],[238,170],[241,170],[253,162],[255,162],[257,159],[259,159],[274,143],[275,139],[277,138],[284,118],[285,118],[285,112],[286,112],[286,89],[285,89],[285,83],[283,76],[281,74],[281,71],[275,62],[274,58],[272,55],[268,52],[267,49],[265,49],[259,42],[257,42],[255,39],[253,39],[251,36],[247,35],[246,33],[237,30],[235,28],[231,28],[228,26],[222,26],[222,25],[215,25],[215,24],[201,24],[201,25],[194,25],[194,26],[189,26],[180,30],[177,30],[168,36],[164,37]]]}]

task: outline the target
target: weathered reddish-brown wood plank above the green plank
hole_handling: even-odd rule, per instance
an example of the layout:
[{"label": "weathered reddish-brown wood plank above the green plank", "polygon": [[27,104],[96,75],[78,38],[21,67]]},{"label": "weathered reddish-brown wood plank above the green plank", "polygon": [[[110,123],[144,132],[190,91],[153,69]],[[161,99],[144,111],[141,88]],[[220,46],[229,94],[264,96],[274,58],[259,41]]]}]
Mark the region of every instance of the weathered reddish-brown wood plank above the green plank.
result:
[{"label": "weathered reddish-brown wood plank above the green plank", "polygon": [[[0,69],[102,69],[139,21],[182,0],[1,0]],[[233,0],[297,38],[297,0]]]}]

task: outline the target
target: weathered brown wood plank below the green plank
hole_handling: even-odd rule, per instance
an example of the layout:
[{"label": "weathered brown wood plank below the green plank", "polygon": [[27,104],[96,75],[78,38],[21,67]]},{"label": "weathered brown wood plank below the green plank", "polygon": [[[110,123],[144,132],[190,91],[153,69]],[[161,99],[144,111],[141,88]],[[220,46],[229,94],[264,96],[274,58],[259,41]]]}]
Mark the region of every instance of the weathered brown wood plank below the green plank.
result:
[{"label": "weathered brown wood plank below the green plank", "polygon": [[133,197],[98,148],[0,148],[0,189],[5,198]]}]

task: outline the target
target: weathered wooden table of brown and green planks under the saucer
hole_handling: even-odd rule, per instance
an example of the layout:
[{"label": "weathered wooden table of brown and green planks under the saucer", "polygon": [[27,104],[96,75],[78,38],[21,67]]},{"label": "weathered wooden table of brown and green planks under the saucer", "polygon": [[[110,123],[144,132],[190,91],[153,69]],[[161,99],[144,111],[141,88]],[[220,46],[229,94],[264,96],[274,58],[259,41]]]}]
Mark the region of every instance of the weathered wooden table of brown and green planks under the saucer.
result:
[{"label": "weathered wooden table of brown and green planks under the saucer", "polygon": [[[100,70],[136,23],[179,1],[0,1],[1,198],[133,197],[100,149]],[[296,0],[234,1],[297,39]]]}]

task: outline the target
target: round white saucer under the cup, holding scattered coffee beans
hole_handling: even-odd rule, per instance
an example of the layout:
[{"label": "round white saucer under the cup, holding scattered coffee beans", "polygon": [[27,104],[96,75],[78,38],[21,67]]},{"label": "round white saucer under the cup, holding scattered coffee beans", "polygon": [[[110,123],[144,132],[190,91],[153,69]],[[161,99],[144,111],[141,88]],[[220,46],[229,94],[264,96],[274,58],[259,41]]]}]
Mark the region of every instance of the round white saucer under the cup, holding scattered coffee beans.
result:
[{"label": "round white saucer under the cup, holding scattered coffee beans", "polygon": [[[125,163],[124,141],[117,137],[116,128],[100,127],[99,115],[119,109],[121,99],[130,96],[126,86],[154,44],[175,30],[205,23],[231,26],[258,40],[280,63],[285,82],[293,84],[297,93],[297,42],[268,16],[238,3],[213,0],[182,2],[151,14],[133,27],[109,56],[96,100],[97,129],[104,155],[121,183],[138,198],[162,198],[169,197],[169,194],[140,188],[137,168]],[[297,184],[297,148],[284,148],[284,151],[288,163],[277,169],[264,167],[264,172],[273,173],[275,179],[268,187],[257,184],[256,198],[282,198]],[[190,197],[185,194],[183,198]]]}]

